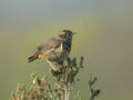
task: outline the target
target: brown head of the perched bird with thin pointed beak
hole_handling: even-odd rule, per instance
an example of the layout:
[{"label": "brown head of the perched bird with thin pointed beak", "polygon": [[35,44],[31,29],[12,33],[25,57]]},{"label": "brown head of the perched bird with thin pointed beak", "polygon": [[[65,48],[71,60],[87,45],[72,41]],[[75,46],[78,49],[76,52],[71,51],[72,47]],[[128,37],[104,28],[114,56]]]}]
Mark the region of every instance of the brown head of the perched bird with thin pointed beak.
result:
[{"label": "brown head of the perched bird with thin pointed beak", "polygon": [[62,38],[62,39],[72,40],[73,34],[75,34],[75,33],[72,32],[71,30],[62,30],[59,33],[59,37]]}]

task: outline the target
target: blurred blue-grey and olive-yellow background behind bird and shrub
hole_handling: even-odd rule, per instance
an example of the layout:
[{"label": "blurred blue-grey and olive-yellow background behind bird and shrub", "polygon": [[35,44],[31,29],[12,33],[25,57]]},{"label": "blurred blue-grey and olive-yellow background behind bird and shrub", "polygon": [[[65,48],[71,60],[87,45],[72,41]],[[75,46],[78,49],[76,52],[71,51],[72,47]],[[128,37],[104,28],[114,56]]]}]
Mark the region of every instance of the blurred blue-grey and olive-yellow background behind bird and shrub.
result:
[{"label": "blurred blue-grey and olive-yellow background behind bird and shrub", "polygon": [[28,57],[62,29],[78,32],[70,56],[85,57],[80,97],[88,100],[92,74],[102,90],[96,100],[133,100],[132,0],[0,0],[0,100],[32,71],[48,72],[45,61]]}]

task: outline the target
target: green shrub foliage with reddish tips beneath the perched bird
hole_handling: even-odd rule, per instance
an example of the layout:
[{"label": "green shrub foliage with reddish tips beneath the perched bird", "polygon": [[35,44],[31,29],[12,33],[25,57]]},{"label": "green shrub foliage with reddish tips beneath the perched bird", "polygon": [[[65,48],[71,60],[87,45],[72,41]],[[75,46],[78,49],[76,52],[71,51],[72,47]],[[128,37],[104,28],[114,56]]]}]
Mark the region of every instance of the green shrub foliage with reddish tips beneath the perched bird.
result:
[{"label": "green shrub foliage with reddish tips beneath the perched bird", "polygon": [[[59,71],[51,70],[51,76],[54,83],[50,83],[48,78],[43,76],[39,78],[35,72],[32,72],[32,83],[30,87],[18,84],[16,92],[11,93],[9,100],[69,100],[72,83],[75,82],[75,77],[83,67],[83,57],[78,63],[76,58],[68,58],[66,64],[61,67]],[[94,89],[96,78],[90,79],[90,100],[94,100],[100,93],[99,89]],[[78,97],[78,100],[83,100]]]}]

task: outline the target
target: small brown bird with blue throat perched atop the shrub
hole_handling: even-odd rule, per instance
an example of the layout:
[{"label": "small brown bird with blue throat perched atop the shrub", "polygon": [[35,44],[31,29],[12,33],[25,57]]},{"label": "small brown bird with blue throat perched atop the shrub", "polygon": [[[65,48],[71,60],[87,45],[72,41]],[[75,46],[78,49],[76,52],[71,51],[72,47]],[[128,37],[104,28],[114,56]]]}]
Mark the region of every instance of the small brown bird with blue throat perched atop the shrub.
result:
[{"label": "small brown bird with blue throat perched atop the shrub", "polygon": [[38,51],[28,61],[32,62],[35,59],[44,59],[53,71],[58,71],[59,67],[69,57],[73,34],[75,33],[70,30],[62,30],[59,34],[44,40],[38,46]]}]

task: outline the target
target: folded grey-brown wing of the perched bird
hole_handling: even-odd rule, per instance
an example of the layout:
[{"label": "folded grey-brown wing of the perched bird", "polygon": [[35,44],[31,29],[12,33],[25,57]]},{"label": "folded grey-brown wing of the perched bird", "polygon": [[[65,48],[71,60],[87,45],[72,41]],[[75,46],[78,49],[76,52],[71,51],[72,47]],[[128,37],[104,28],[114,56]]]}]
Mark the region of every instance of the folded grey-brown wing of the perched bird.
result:
[{"label": "folded grey-brown wing of the perched bird", "polygon": [[61,44],[61,40],[55,39],[55,38],[51,38],[47,41],[41,42],[37,48],[38,48],[38,50],[48,51],[52,48],[60,47],[60,44]]}]

